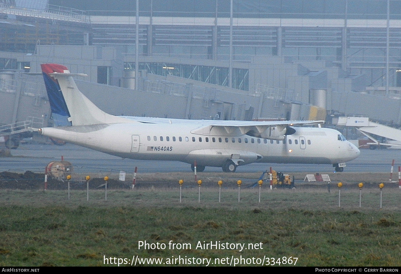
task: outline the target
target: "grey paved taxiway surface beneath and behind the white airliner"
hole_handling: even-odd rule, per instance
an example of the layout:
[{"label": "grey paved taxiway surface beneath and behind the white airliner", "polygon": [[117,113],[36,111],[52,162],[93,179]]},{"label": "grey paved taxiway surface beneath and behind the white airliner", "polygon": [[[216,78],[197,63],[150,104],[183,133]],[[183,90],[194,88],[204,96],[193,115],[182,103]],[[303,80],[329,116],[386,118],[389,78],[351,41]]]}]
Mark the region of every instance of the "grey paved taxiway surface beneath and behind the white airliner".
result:
[{"label": "grey paved taxiway surface beneath and behind the white airliner", "polygon": [[[189,172],[189,164],[168,161],[141,161],[122,159],[116,156],[97,152],[73,144],[56,146],[53,144],[20,144],[18,149],[11,150],[14,157],[0,158],[0,172],[25,170],[43,171],[51,161],[64,160],[75,166],[75,171],[97,171],[101,169],[126,170],[133,172],[138,166],[138,172]],[[20,157],[16,157],[20,156]],[[394,172],[401,165],[401,150],[397,149],[362,149],[360,156],[347,162],[344,172],[389,172],[391,161],[395,159]],[[331,165],[317,164],[266,164],[255,163],[237,168],[237,172],[262,172],[272,166],[282,172],[333,172]],[[222,172],[221,168],[207,167],[205,172]]]}]

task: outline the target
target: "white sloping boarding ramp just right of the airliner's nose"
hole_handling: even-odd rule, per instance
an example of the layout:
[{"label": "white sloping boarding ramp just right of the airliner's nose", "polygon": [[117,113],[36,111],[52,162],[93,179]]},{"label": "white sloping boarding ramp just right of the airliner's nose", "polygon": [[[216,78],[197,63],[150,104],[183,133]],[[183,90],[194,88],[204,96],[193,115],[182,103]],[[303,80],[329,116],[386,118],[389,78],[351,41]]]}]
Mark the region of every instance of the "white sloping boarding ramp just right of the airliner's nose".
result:
[{"label": "white sloping boarding ramp just right of the airliner's nose", "polygon": [[371,134],[377,136],[382,136],[387,139],[395,140],[401,142],[401,130],[398,128],[392,128],[390,126],[385,126],[379,123],[369,121],[367,117],[338,117],[337,126],[353,126],[360,133],[367,136],[373,142],[367,143],[368,145],[383,145],[383,146],[399,146],[400,144],[386,144],[379,142]]}]

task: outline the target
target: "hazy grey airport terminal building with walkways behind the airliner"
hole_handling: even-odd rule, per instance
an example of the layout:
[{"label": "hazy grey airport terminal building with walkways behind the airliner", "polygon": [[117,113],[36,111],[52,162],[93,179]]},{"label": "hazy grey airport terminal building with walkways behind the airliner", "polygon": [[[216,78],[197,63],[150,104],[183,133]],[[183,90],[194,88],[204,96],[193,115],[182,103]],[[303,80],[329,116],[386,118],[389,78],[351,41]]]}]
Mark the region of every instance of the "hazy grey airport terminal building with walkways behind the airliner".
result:
[{"label": "hazy grey airport terminal building with walkways behind the airliner", "polygon": [[137,17],[131,0],[0,0],[0,124],[24,119],[21,96],[46,104],[21,84],[40,80],[10,75],[45,62],[88,74],[111,114],[401,124],[400,0],[138,2]]}]

